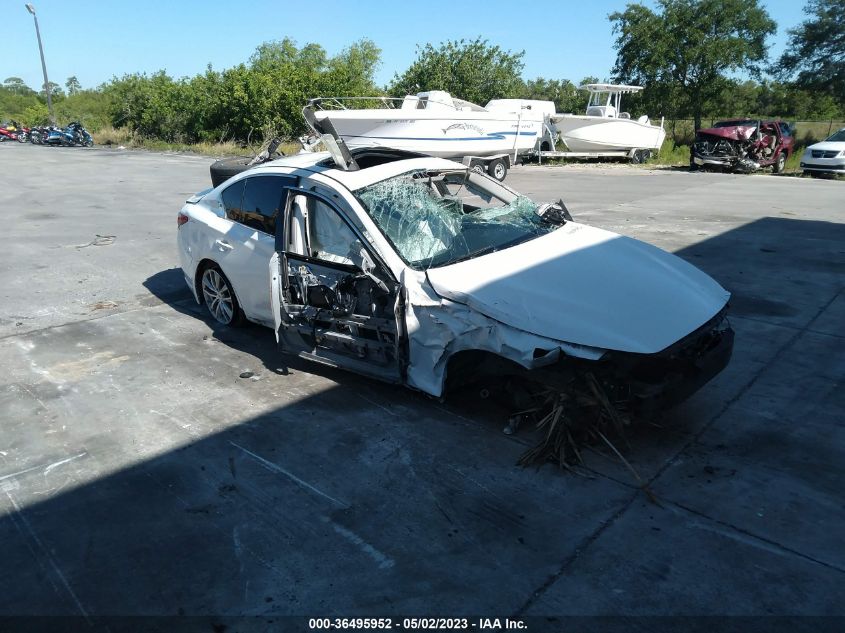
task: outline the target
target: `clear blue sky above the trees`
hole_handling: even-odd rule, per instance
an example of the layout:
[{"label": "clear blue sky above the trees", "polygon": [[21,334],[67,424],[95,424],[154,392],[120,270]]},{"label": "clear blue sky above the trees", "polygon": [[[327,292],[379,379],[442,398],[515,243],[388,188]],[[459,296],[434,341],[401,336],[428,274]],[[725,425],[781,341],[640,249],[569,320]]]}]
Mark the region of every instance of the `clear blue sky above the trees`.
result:
[{"label": "clear blue sky above the trees", "polygon": [[[21,77],[41,83],[32,17],[25,0],[4,1],[0,81]],[[782,52],[786,29],[804,19],[803,0],[762,0],[778,23],[771,55]],[[607,77],[615,54],[608,14],[624,0],[459,0],[403,2],[321,0],[33,0],[50,80],[64,85],[76,75],[83,87],[112,76],[165,69],[175,77],[224,69],[246,61],[267,40],[291,37],[321,44],[334,54],[367,37],[382,49],[377,80],[385,84],[405,70],[416,46],[449,39],[487,38],[525,51],[524,77],[578,81]],[[644,4],[652,3],[646,0]]]}]

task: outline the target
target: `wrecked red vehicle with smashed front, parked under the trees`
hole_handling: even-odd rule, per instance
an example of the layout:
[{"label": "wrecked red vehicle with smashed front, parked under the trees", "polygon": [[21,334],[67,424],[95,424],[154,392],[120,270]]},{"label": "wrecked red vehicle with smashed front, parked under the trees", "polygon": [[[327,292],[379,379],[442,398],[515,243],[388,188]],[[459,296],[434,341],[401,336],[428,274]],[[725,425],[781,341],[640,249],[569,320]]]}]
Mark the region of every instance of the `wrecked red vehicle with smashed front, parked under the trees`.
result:
[{"label": "wrecked red vehicle with smashed front, parked under the trees", "polygon": [[748,173],[771,167],[778,174],[794,149],[792,128],[785,121],[719,121],[714,127],[696,133],[690,169],[710,166]]}]

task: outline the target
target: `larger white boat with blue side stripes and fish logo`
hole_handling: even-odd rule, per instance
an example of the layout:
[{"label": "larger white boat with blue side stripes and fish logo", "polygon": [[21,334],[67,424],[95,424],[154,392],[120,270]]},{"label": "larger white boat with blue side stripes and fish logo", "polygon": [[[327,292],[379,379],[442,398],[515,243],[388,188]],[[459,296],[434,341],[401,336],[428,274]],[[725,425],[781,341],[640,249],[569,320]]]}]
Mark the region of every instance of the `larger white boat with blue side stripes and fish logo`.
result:
[{"label": "larger white boat with blue side stripes and fish logo", "polygon": [[[354,109],[356,98],[312,100],[314,116],[329,119],[346,146],[389,147],[441,158],[520,154],[531,150],[542,135],[547,112],[514,103],[482,108],[430,90],[404,98],[369,97],[359,103],[383,107]],[[491,102],[492,103],[492,102]],[[335,108],[335,109],[317,109]],[[554,112],[554,105],[551,106]]]}]

